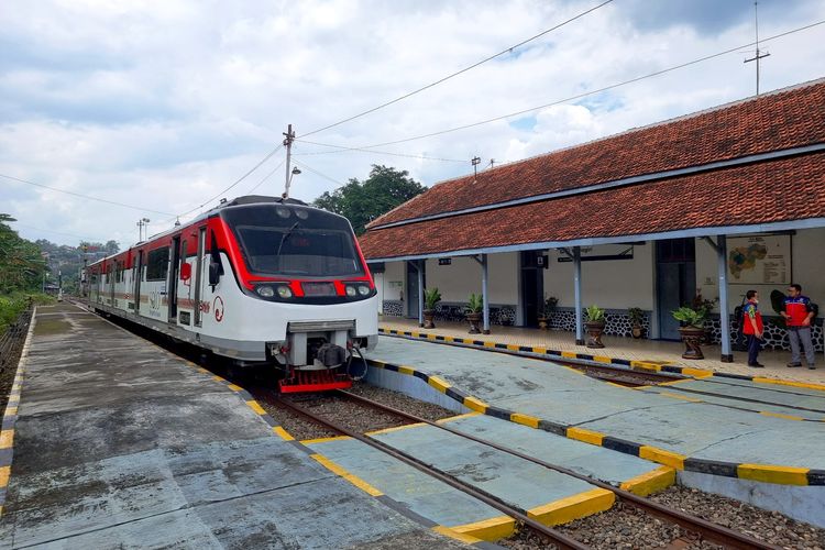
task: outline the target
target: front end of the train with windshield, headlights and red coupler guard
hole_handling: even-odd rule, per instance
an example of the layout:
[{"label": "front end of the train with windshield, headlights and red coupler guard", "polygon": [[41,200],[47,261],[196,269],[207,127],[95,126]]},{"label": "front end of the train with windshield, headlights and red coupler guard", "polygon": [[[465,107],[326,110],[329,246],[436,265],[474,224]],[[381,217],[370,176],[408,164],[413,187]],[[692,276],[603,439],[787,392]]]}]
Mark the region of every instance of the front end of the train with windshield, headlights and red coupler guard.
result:
[{"label": "front end of the train with windshield, headlights and red coupler guard", "polygon": [[375,284],[350,222],[288,199],[226,208],[221,218],[242,256],[251,310],[266,311],[250,330],[266,334],[280,391],[349,387],[378,334]]}]

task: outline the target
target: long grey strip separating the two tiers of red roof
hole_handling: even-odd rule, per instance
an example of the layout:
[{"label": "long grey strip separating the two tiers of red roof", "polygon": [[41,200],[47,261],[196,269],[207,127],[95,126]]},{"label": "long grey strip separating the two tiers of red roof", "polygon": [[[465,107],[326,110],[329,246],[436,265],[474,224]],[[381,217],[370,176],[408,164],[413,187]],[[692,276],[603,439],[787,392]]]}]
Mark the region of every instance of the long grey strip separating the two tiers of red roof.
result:
[{"label": "long grey strip separating the two tiers of red roof", "polygon": [[771,151],[769,153],[758,153],[755,155],[741,156],[738,158],[732,158],[728,161],[718,161],[708,164],[702,164],[697,166],[690,166],[688,168],[676,168],[672,170],[656,172],[652,174],[645,174],[641,176],[631,176],[622,179],[615,179],[612,182],[605,182],[602,184],[587,185],[584,187],[576,187],[574,189],[564,189],[561,191],[546,193],[543,195],[535,195],[532,197],[522,197],[518,199],[505,200],[502,202],[493,202],[491,205],[483,205],[472,208],[463,208],[461,210],[451,210],[448,212],[433,213],[429,216],[420,216],[418,218],[410,218],[408,220],[394,221],[391,223],[382,223],[380,226],[367,228],[367,231],[377,231],[380,229],[395,228],[398,226],[408,226],[410,223],[418,223],[421,221],[439,220],[442,218],[451,218],[454,216],[462,216],[466,213],[484,212],[487,210],[497,210],[499,208],[507,208],[518,205],[527,205],[530,202],[541,202],[544,200],[558,199],[561,197],[571,197],[575,195],[584,195],[586,193],[601,191],[605,189],[614,189],[617,187],[626,187],[629,185],[644,184],[653,182],[657,179],[666,179],[679,176],[690,176],[695,174],[702,174],[704,172],[711,172],[721,168],[730,168],[735,166],[744,166],[748,164],[759,163],[763,161],[777,161],[780,158],[787,158],[790,156],[805,155],[812,153],[820,153],[825,151],[825,143],[816,143],[814,145],[804,145],[800,147],[791,147],[781,151]]}]

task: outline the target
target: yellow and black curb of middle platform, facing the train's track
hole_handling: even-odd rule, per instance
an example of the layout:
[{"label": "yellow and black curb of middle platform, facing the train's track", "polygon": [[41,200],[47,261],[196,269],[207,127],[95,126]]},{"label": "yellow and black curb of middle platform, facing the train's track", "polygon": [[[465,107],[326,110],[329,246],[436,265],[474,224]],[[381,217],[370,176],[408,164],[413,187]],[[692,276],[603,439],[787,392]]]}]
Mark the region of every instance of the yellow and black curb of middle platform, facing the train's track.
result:
[{"label": "yellow and black curb of middle platform, facing the train's track", "polygon": [[719,475],[724,477],[738,477],[740,480],[752,480],[765,483],[781,485],[825,485],[825,470],[807,468],[782,466],[773,464],[750,464],[723,462],[707,459],[690,458],[684,454],[659,449],[652,446],[636,443],[626,439],[610,437],[598,431],[587,430],[575,426],[566,426],[551,420],[544,420],[531,415],[525,415],[515,410],[508,410],[484,403],[482,399],[466,394],[452,386],[449,382],[438,376],[432,376],[418,369],[407,365],[396,365],[377,360],[367,360],[370,366],[393,371],[399,374],[415,376],[425,384],[432,386],[438,392],[455,399],[471,410],[483,415],[508,420],[512,422],[529,426],[530,428],[549,431],[557,436],[575,439],[613,451],[639,457],[666,466],[688,472]]}]

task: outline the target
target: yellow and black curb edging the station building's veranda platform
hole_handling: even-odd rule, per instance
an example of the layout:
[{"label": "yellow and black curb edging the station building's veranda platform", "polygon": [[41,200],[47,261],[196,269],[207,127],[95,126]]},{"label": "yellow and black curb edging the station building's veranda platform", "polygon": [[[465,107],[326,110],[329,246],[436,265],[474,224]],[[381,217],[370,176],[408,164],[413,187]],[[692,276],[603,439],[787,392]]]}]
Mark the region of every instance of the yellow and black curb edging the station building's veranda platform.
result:
[{"label": "yellow and black curb edging the station building's veranda platform", "polygon": [[487,340],[473,340],[470,338],[448,337],[443,334],[436,334],[432,332],[414,332],[395,329],[378,329],[378,332],[385,336],[403,337],[416,340],[426,340],[428,342],[438,342],[444,344],[460,345],[464,348],[477,348],[486,351],[498,351],[510,354],[530,354],[528,356],[536,358],[537,355],[541,359],[548,360],[564,360],[571,362],[590,362],[598,363],[604,365],[612,365],[622,367],[630,371],[639,372],[656,372],[667,374],[680,374],[682,376],[689,376],[691,378],[735,378],[741,381],[754,382],[755,384],[777,384],[781,386],[802,387],[806,389],[816,389],[825,392],[825,384],[814,384],[809,382],[794,382],[780,378],[768,378],[765,376],[750,376],[747,374],[734,374],[711,371],[707,369],[694,369],[691,366],[674,365],[669,362],[662,361],[636,361],[622,358],[610,358],[607,355],[592,355],[588,353],[578,353],[572,351],[550,350],[541,346],[530,345],[516,345],[507,344],[503,342],[491,342]]}]

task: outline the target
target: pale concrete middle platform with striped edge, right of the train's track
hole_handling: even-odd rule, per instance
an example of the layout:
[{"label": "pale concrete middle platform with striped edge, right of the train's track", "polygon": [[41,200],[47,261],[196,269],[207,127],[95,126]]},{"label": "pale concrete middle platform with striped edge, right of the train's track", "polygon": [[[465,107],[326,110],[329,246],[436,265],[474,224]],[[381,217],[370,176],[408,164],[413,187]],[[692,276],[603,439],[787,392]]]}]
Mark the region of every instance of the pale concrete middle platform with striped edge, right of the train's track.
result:
[{"label": "pale concrete middle platform with striped edge, right of the train's track", "polygon": [[[389,383],[396,389],[418,397],[431,389],[473,410],[670,465],[694,485],[712,484],[717,492],[825,525],[824,422],[644,393],[547,361],[400,338],[380,338],[369,359],[377,371],[417,381]],[[371,380],[382,384],[383,376]],[[809,408],[825,408],[825,393],[815,389],[783,385],[766,394],[752,382],[728,382],[712,387],[732,395],[759,392],[777,408],[787,405],[779,399],[799,389],[805,395],[796,397]]]}]

